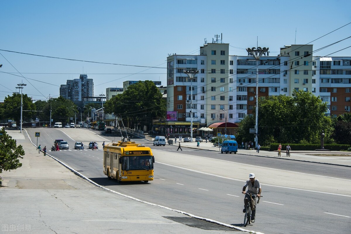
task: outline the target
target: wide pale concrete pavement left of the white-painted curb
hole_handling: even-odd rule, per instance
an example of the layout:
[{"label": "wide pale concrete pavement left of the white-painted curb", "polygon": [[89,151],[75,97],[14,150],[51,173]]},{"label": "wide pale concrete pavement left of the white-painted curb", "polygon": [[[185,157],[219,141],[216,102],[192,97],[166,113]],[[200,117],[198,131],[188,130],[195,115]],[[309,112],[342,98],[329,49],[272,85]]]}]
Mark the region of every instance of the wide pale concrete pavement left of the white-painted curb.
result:
[{"label": "wide pale concrete pavement left of the white-painted curb", "polygon": [[25,156],[20,159],[22,167],[1,174],[0,233],[221,234],[233,230],[231,225],[191,218],[95,186],[54,160],[49,151],[45,157],[38,153],[25,131],[7,133],[23,146]]}]

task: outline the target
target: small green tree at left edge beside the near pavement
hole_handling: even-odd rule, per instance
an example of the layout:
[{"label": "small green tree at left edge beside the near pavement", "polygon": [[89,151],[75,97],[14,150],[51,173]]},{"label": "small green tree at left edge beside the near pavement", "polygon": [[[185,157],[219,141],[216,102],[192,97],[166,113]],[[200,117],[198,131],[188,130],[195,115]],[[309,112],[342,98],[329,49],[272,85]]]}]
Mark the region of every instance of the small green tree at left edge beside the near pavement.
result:
[{"label": "small green tree at left edge beside the near pavement", "polygon": [[[21,167],[19,158],[23,158],[22,145],[16,146],[16,141],[7,134],[4,128],[0,130],[0,173]],[[1,181],[0,181],[1,184]]]}]

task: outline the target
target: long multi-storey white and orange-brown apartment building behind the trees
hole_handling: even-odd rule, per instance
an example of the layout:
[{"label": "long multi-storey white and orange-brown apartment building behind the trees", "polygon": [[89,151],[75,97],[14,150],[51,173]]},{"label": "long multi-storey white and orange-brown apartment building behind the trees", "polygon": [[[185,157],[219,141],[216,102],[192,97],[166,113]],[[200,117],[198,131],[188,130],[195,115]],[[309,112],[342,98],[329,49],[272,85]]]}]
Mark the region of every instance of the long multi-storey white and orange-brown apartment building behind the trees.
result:
[{"label": "long multi-storey white and orange-brown apartment building behind the trees", "polygon": [[[350,111],[350,63],[351,57],[314,56],[311,44],[284,46],[258,61],[229,55],[226,43],[204,44],[199,55],[167,57],[167,113],[176,119],[155,124],[166,133],[190,131],[191,121],[193,128],[234,124],[253,113],[257,95],[291,96],[293,90],[311,91],[327,103],[326,115],[340,115]],[[192,79],[184,74],[191,70],[199,71]]]}]

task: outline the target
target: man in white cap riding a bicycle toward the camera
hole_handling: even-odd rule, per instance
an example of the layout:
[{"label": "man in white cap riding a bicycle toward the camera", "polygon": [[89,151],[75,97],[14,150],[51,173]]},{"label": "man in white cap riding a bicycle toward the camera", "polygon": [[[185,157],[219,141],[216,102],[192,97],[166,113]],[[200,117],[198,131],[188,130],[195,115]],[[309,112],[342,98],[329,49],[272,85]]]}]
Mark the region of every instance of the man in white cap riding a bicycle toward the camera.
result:
[{"label": "man in white cap riding a bicycle toward the camera", "polygon": [[[258,181],[258,179],[255,179],[254,173],[249,174],[249,179],[246,180],[245,185],[243,187],[243,192],[242,192],[243,194],[245,194],[245,198],[250,199],[250,195],[245,192],[246,187],[248,187],[247,192],[251,193],[252,200],[254,203],[254,209],[251,212],[251,222],[254,223],[255,215],[256,215],[256,204],[258,201],[258,197],[261,196],[261,192],[262,192],[260,181]],[[245,201],[246,201],[245,198],[244,198],[244,209],[243,209],[244,213],[246,212],[246,206],[247,206],[247,204],[245,204]]]}]

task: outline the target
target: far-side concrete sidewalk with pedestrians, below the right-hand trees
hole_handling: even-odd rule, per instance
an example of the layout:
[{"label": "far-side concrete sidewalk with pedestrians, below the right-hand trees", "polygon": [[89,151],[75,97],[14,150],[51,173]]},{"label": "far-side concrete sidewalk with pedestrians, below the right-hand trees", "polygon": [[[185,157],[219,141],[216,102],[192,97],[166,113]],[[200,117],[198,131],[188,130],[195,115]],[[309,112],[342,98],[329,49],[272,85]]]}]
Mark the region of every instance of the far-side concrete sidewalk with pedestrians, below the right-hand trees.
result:
[{"label": "far-side concrete sidewalk with pedestrians, below the right-hand trees", "polygon": [[[194,139],[195,140],[195,139]],[[177,143],[174,142],[173,146],[178,147],[179,140],[177,139]],[[218,146],[214,146],[211,142],[200,142],[200,147],[197,147],[197,142],[181,142],[181,147],[200,149],[200,150],[209,150],[209,151],[217,151],[220,152],[220,148]],[[259,153],[256,150],[245,150],[238,149],[238,154],[245,154],[257,157],[271,157],[276,158],[277,160],[298,160],[298,161],[306,161],[313,163],[323,163],[330,165],[340,165],[351,167],[351,152],[343,152],[343,151],[294,151],[291,150],[291,156],[286,157],[285,150],[282,150],[282,156],[278,157],[278,151],[263,151],[260,150]],[[232,153],[233,154],[233,153]]]}]

